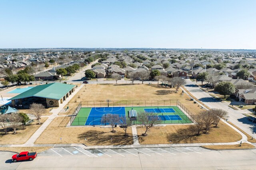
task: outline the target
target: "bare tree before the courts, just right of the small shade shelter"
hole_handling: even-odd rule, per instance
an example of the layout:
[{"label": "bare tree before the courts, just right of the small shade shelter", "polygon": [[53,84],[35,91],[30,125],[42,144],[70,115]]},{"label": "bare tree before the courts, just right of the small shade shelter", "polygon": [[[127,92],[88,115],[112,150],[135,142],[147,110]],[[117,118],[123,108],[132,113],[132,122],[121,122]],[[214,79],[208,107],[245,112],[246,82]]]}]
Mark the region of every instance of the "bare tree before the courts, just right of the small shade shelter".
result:
[{"label": "bare tree before the courts, just right of the small shade shelter", "polygon": [[137,119],[146,128],[145,133],[142,134],[143,136],[146,135],[148,129],[150,129],[156,124],[161,123],[161,120],[159,120],[157,113],[152,113],[152,112],[141,112],[138,114]]}]

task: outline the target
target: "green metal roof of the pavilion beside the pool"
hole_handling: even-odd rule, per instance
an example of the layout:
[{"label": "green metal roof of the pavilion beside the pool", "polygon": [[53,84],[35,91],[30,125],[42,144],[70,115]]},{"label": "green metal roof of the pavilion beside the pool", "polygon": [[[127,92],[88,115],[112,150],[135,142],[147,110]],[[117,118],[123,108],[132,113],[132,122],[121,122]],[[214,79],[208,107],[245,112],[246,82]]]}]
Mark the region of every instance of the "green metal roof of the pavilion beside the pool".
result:
[{"label": "green metal roof of the pavilion beside the pool", "polygon": [[27,90],[9,100],[16,100],[21,98],[39,97],[60,100],[65,96],[75,85],[64,83],[50,83]]}]

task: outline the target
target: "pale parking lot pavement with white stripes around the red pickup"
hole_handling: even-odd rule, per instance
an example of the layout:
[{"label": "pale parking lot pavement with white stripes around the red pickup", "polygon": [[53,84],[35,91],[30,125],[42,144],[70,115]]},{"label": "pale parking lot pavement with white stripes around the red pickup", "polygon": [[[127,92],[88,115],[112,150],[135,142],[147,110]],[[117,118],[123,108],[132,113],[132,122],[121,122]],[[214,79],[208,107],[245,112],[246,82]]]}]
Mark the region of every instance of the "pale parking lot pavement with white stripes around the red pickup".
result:
[{"label": "pale parking lot pavement with white stripes around the red pickup", "polygon": [[89,149],[52,148],[33,161],[12,162],[12,152],[0,152],[1,170],[158,170],[256,169],[256,149],[207,150],[201,147]]}]

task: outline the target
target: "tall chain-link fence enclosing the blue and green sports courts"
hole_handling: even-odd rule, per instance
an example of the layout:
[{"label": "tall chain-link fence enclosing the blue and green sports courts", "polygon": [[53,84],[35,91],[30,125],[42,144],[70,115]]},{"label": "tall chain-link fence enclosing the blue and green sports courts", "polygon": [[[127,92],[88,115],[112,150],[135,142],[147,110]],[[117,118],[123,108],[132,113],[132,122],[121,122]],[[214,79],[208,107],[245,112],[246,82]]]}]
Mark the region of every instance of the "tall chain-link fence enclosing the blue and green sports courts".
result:
[{"label": "tall chain-link fence enclosing the blue and green sports courts", "polygon": [[[166,120],[164,117],[161,119],[161,123],[195,123],[194,122],[194,114],[191,113],[189,109],[187,109],[183,104],[181,104],[178,100],[124,100],[124,101],[82,101],[78,104],[75,111],[70,115],[70,125],[104,125],[106,123],[102,122],[102,115],[98,117],[94,115],[94,117],[90,117],[91,124],[85,124],[88,122],[88,117],[76,117],[81,107],[147,107],[147,106],[177,106],[183,113],[179,114],[180,119],[176,120]],[[175,110],[175,108],[174,108]],[[178,113],[178,111],[176,111]],[[120,115],[122,117],[124,115]],[[160,115],[161,117],[161,115]],[[132,124],[140,124],[134,117],[126,117],[126,119],[131,119]]]}]

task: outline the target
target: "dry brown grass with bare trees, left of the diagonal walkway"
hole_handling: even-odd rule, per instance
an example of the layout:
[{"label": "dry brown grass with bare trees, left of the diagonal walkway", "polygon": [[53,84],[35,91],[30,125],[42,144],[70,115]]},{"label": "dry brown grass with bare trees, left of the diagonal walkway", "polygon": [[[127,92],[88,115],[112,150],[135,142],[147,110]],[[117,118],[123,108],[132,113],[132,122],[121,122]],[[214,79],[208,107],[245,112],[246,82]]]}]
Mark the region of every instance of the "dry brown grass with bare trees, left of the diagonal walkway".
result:
[{"label": "dry brown grass with bare trees, left of the diagonal walkway", "polygon": [[[40,120],[40,125],[38,125],[38,121],[35,119],[31,124],[25,125],[24,130],[22,129],[22,125],[18,127],[16,134],[13,132],[8,132],[5,134],[3,129],[0,130],[0,144],[24,144],[28,139],[34,134],[34,132],[46,121],[48,117],[42,117]],[[8,128],[8,130],[11,130]]]}]

